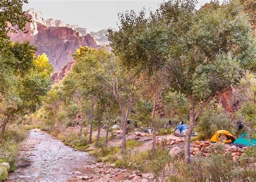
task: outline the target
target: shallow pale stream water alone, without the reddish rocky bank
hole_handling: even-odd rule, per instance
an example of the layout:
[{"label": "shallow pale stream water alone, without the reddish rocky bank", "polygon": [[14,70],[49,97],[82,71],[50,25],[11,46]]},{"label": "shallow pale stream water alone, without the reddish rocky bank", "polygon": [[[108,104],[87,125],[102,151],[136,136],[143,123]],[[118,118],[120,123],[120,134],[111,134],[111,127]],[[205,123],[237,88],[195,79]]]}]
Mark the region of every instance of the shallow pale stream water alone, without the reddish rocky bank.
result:
[{"label": "shallow pale stream water alone, without the reddish rocky bank", "polygon": [[95,161],[87,152],[75,151],[44,132],[30,132],[18,158],[18,169],[10,173],[8,181],[66,181]]}]

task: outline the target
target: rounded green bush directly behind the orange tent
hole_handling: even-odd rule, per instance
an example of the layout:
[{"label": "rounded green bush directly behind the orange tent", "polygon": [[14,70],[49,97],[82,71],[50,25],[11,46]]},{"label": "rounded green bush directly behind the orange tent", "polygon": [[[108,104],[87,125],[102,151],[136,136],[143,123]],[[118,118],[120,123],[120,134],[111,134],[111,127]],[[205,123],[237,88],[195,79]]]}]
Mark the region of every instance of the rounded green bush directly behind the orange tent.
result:
[{"label": "rounded green bush directly behind the orange tent", "polygon": [[236,124],[230,119],[230,116],[223,108],[217,106],[208,106],[198,119],[196,130],[199,132],[199,139],[209,139],[217,130],[227,130],[234,134]]}]

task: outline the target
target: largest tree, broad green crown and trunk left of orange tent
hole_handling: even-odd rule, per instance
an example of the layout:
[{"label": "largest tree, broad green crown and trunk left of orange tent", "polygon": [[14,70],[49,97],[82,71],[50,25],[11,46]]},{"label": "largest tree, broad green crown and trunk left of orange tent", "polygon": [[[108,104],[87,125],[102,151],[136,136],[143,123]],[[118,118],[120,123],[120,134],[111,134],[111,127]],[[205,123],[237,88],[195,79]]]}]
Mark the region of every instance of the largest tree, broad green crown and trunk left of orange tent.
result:
[{"label": "largest tree, broad green crown and trunk left of orange tent", "polygon": [[170,86],[186,95],[187,163],[201,110],[215,95],[236,85],[241,69],[255,60],[251,26],[239,4],[209,3],[198,11],[195,6],[196,1],[165,2],[150,18],[144,11],[127,12],[120,16],[119,30],[109,30],[110,45],[123,65],[149,71],[166,68]]}]

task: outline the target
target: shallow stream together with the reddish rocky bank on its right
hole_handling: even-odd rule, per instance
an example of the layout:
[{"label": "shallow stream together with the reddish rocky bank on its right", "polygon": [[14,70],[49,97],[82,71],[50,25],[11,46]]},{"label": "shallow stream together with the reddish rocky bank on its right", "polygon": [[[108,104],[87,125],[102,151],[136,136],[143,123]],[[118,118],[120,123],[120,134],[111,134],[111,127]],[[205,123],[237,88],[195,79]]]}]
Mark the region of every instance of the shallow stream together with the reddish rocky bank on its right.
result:
[{"label": "shallow stream together with the reddish rocky bank on its right", "polygon": [[9,173],[7,181],[120,180],[125,176],[126,170],[99,165],[87,152],[77,151],[45,132],[33,130],[21,144],[17,170]]}]

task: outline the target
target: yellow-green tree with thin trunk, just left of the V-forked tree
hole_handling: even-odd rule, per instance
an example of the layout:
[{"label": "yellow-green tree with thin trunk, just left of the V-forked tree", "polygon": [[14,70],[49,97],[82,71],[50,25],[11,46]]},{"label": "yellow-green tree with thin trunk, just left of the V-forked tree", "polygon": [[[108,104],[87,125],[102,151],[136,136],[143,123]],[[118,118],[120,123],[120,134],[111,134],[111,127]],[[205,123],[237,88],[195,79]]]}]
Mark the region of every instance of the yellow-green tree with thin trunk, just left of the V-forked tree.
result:
[{"label": "yellow-green tree with thin trunk, just left of the V-forked tree", "polygon": [[[98,62],[106,60],[108,56],[109,54],[103,48],[95,50],[87,46],[79,47],[76,53],[73,54],[75,65],[72,68],[72,72],[77,75],[78,84],[82,87],[84,96],[91,104],[90,114],[88,115],[90,123],[89,143],[92,143],[93,113],[96,104],[101,103],[105,91],[102,80],[98,79],[97,76],[97,66]],[[98,127],[100,129],[100,124]]]}]

